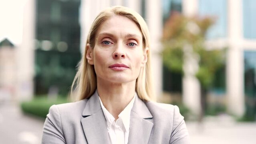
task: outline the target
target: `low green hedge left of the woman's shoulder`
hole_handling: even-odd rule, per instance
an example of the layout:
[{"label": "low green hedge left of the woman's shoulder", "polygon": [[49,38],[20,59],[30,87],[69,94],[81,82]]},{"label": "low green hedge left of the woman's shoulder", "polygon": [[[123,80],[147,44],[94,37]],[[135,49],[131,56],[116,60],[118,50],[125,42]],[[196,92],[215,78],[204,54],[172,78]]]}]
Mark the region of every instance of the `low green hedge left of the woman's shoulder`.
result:
[{"label": "low green hedge left of the woman's shoulder", "polygon": [[20,106],[24,113],[46,118],[50,106],[67,102],[67,98],[63,98],[63,96],[58,96],[57,99],[49,99],[47,96],[37,96],[31,101],[22,102]]}]

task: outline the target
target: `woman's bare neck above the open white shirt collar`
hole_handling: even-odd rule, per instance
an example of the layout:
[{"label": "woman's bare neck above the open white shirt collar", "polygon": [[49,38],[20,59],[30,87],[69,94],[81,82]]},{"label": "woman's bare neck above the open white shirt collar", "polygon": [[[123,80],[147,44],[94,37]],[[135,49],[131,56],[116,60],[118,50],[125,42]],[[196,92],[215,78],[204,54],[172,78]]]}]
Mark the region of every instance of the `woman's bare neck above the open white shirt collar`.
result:
[{"label": "woman's bare neck above the open white shirt collar", "polygon": [[131,102],[135,94],[136,81],[114,84],[97,82],[97,92],[105,108],[117,120],[118,115]]}]

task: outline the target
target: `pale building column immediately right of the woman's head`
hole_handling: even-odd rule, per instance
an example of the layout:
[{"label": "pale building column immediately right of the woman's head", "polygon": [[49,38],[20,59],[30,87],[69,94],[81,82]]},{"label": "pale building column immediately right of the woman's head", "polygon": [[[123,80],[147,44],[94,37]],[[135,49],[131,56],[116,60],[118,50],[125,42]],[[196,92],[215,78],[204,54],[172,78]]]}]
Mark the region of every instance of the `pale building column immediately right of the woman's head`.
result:
[{"label": "pale building column immediately right of the woman's head", "polygon": [[162,45],[161,37],[163,30],[161,2],[157,0],[147,0],[145,4],[146,22],[150,32],[151,39],[151,67],[153,72],[153,84],[156,99],[162,95]]}]

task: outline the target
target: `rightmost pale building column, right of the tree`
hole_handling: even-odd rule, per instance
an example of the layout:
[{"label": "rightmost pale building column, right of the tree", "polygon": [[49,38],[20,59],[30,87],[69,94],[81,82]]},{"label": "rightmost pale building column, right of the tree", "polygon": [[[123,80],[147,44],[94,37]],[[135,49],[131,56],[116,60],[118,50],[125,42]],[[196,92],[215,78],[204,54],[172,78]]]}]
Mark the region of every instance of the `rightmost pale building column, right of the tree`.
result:
[{"label": "rightmost pale building column, right of the tree", "polygon": [[227,106],[228,112],[242,116],[245,110],[242,0],[228,0],[227,6],[229,37],[226,61]]}]

